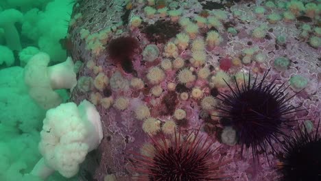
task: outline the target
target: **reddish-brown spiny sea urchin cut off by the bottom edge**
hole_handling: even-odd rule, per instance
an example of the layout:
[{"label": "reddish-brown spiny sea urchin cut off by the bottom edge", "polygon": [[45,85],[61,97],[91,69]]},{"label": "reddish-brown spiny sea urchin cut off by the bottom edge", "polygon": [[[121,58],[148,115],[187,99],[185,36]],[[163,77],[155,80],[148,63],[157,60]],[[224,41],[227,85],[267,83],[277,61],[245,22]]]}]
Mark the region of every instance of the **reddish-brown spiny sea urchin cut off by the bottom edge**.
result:
[{"label": "reddish-brown spiny sea urchin cut off by the bottom edge", "polygon": [[189,134],[182,141],[179,131],[174,133],[174,140],[151,138],[153,149],[145,150],[146,154],[135,154],[134,171],[140,173],[138,180],[150,181],[205,181],[222,180],[219,167],[228,161],[213,159],[216,149],[211,149],[209,137],[202,139],[199,131]]}]

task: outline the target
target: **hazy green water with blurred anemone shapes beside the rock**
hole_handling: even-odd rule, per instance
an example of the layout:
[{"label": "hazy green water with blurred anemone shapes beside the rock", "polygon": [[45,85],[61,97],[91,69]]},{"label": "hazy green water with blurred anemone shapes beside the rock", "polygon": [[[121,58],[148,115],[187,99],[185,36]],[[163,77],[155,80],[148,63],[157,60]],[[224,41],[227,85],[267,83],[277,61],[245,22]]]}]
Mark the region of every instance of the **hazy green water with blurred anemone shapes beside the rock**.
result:
[{"label": "hazy green water with blurred anemone shapes beside the rock", "polygon": [[[73,2],[69,0],[0,1],[1,181],[40,180],[25,174],[41,158],[38,142],[45,110],[29,97],[23,67],[38,51],[48,53],[53,63],[66,60],[66,50],[59,41],[67,35],[72,7]],[[12,27],[16,29],[5,24],[12,23],[13,19]],[[68,98],[64,91],[60,91],[60,95]],[[76,179],[54,173],[47,180]]]}]

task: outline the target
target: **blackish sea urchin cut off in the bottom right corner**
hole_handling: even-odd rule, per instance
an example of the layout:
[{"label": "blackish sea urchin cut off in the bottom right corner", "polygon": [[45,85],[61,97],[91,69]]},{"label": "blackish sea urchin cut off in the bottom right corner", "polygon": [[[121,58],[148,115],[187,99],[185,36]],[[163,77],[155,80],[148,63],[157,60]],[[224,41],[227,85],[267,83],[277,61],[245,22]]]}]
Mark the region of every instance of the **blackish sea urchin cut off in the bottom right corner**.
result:
[{"label": "blackish sea urchin cut off in the bottom right corner", "polygon": [[285,138],[283,158],[278,172],[280,181],[318,181],[321,180],[321,136],[309,133],[307,128],[295,132],[293,138]]}]

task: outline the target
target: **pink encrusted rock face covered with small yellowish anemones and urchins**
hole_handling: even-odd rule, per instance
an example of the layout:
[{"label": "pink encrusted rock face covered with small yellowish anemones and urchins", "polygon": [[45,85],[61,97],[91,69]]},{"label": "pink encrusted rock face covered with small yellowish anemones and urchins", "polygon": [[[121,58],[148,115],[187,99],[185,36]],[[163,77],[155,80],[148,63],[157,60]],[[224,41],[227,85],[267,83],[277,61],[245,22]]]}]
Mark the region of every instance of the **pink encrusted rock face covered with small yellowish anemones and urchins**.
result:
[{"label": "pink encrusted rock face covered with small yellowish anemones and urchins", "polygon": [[[123,11],[112,6],[115,15],[71,31],[91,55],[81,55],[88,61],[80,76],[93,77],[92,86],[82,78],[86,84],[78,84],[74,97],[90,99],[106,125],[108,141],[100,152],[108,154],[99,171],[142,180],[278,178],[273,165],[281,144],[292,139],[296,122],[315,119],[309,112],[319,111],[320,5],[114,5]],[[191,132],[206,136],[189,142]],[[221,146],[214,153],[209,145]]]}]

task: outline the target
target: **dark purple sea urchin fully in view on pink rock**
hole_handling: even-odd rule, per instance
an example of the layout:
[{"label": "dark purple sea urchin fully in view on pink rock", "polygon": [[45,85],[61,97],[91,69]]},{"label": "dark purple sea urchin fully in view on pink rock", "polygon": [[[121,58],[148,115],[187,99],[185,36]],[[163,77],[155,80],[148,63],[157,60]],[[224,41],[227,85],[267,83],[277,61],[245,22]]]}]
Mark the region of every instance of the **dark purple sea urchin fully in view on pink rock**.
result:
[{"label": "dark purple sea urchin fully in view on pink rock", "polygon": [[[289,118],[287,114],[296,112],[296,108],[287,104],[288,93],[283,88],[284,83],[276,88],[275,80],[265,84],[270,69],[263,75],[261,82],[257,82],[257,77],[251,83],[250,75],[246,79],[243,77],[241,87],[234,77],[236,90],[228,85],[231,94],[219,93],[217,99],[223,103],[222,107],[216,107],[222,113],[221,117],[230,119],[230,125],[237,131],[238,143],[243,149],[251,147],[253,157],[259,152],[267,152],[270,145],[273,151],[272,141],[279,142],[277,134],[283,134],[283,128],[289,128]],[[225,81],[225,80],[224,80]]]}]

